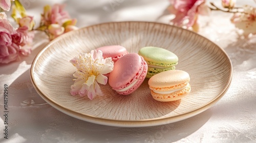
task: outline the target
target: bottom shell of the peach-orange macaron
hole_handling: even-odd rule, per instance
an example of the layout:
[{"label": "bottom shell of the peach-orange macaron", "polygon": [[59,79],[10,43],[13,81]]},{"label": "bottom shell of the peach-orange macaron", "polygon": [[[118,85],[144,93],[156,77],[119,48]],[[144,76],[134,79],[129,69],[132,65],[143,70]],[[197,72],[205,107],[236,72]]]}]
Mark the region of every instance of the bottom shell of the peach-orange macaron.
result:
[{"label": "bottom shell of the peach-orange macaron", "polygon": [[170,93],[170,94],[158,94],[155,93],[153,90],[151,90],[152,97],[161,102],[170,102],[170,101],[176,101],[184,98],[187,94],[189,94],[191,91],[191,86],[188,84],[188,86],[182,90]]}]

